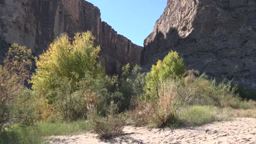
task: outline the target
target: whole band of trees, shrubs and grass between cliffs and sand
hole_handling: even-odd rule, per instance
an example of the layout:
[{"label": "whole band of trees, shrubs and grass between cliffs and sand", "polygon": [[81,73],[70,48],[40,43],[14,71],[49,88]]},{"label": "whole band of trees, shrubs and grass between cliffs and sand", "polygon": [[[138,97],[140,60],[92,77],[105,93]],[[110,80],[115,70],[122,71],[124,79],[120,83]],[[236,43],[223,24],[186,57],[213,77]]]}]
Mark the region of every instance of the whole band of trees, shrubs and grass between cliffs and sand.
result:
[{"label": "whole band of trees, shrubs and grass between cliffs and sand", "polygon": [[10,47],[0,67],[0,130],[17,122],[34,125],[86,119],[101,138],[109,138],[123,134],[126,122],[158,128],[198,125],[218,120],[210,111],[219,108],[212,107],[255,107],[254,101],[246,101],[247,96],[244,101],[239,97],[237,92],[247,92],[231,81],[217,82],[186,70],[177,52],[169,52],[148,73],[127,64],[120,75],[108,76],[98,62],[100,46],[95,45],[92,33],[77,33],[71,39],[67,34],[57,38],[36,58],[34,74],[31,50],[17,44]]}]

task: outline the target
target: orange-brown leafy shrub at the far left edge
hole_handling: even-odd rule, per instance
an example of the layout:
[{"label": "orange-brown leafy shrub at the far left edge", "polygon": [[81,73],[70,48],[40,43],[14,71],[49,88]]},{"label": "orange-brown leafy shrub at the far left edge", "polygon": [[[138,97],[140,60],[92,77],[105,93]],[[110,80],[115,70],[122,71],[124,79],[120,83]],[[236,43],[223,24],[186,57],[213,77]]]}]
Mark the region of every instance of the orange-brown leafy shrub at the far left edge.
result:
[{"label": "orange-brown leafy shrub at the far left edge", "polygon": [[14,118],[10,109],[15,107],[14,101],[30,79],[32,59],[31,50],[17,44],[11,45],[4,58],[3,67],[0,67],[0,130]]}]

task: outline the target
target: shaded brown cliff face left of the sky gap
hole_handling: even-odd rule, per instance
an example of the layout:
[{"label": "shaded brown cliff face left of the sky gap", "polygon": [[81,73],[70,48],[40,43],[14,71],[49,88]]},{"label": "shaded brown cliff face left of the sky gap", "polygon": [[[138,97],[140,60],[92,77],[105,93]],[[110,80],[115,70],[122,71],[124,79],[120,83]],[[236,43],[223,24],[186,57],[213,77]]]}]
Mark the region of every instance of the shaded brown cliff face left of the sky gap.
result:
[{"label": "shaded brown cliff face left of the sky gap", "polygon": [[[0,58],[13,43],[39,55],[61,33],[91,31],[101,45],[108,74],[126,63],[140,63],[142,47],[101,21],[100,10],[83,0],[0,0]],[[1,59],[0,59],[1,61]]]}]

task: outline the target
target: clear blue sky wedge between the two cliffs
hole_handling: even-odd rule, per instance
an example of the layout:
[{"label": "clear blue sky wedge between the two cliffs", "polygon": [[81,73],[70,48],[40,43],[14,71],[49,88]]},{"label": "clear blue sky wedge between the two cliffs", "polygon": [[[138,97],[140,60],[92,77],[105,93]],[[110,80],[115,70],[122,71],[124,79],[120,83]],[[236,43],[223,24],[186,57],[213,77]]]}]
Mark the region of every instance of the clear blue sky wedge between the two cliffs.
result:
[{"label": "clear blue sky wedge between the two cliffs", "polygon": [[101,19],[118,34],[143,46],[155,21],[164,12],[167,0],[86,0],[101,10]]}]

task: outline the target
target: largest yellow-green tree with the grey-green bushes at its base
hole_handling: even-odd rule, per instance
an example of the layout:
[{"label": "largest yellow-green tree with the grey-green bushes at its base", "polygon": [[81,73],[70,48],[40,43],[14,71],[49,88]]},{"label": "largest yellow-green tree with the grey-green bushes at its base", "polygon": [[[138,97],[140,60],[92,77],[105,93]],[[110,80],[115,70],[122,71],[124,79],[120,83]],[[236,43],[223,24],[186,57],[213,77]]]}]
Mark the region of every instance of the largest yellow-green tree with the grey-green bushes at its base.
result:
[{"label": "largest yellow-green tree with the grey-green bushes at its base", "polygon": [[71,43],[65,34],[37,59],[32,88],[50,104],[58,120],[86,118],[88,103],[104,115],[111,100],[122,98],[117,77],[106,76],[97,62],[100,47],[94,40],[91,32],[77,33]]}]

